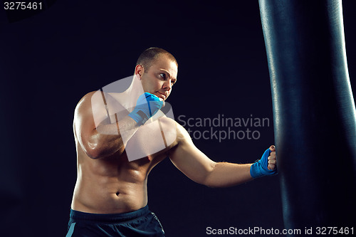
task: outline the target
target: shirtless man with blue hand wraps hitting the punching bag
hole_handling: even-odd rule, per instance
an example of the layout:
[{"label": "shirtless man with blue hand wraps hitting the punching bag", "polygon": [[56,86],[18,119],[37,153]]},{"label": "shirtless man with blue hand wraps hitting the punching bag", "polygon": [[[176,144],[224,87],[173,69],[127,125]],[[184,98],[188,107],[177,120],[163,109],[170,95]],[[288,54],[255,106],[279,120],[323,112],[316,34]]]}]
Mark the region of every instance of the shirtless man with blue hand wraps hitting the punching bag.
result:
[{"label": "shirtless man with blue hand wraps hitting the punching bag", "polygon": [[[194,146],[184,127],[160,110],[177,72],[170,53],[149,48],[125,92],[88,93],[78,102],[73,121],[78,178],[67,237],[164,236],[147,207],[147,176],[166,157],[189,179],[211,187],[276,174],[274,146],[253,164],[214,162]],[[162,137],[164,147],[157,149]]]}]

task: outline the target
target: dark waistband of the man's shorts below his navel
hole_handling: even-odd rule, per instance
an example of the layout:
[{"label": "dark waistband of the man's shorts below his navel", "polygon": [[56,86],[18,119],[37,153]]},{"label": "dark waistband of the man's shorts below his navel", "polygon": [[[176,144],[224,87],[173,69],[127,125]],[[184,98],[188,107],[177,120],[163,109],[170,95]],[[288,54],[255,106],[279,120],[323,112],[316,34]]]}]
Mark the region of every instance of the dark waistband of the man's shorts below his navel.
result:
[{"label": "dark waistband of the man's shorts below his navel", "polygon": [[148,206],[142,207],[142,209],[138,209],[137,211],[131,211],[120,214],[93,214],[82,211],[75,211],[70,209],[70,218],[73,221],[95,221],[95,222],[123,222],[130,221],[132,219],[145,216],[149,214],[150,210]]}]

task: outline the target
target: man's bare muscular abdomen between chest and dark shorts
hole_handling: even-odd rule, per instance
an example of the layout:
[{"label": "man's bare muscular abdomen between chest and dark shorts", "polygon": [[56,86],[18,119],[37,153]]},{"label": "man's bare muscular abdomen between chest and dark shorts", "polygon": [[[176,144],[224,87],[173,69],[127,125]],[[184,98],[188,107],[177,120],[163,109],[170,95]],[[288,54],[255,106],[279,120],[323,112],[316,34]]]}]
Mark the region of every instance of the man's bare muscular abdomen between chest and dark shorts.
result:
[{"label": "man's bare muscular abdomen between chest and dark shorts", "polygon": [[119,214],[147,205],[147,176],[165,155],[128,162],[125,152],[120,157],[91,159],[80,147],[78,178],[71,208],[94,214]]}]

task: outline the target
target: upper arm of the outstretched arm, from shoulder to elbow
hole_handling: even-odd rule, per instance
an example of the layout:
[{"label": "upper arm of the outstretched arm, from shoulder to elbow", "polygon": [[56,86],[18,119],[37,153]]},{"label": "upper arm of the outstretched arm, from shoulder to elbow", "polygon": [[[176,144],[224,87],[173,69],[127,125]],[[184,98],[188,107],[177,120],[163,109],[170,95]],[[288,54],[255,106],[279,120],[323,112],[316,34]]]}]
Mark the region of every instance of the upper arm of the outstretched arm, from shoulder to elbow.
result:
[{"label": "upper arm of the outstretched arm, from shoulder to elbow", "polygon": [[169,158],[177,169],[189,179],[204,184],[216,162],[206,157],[192,142],[187,130],[179,125],[178,143],[169,152]]}]

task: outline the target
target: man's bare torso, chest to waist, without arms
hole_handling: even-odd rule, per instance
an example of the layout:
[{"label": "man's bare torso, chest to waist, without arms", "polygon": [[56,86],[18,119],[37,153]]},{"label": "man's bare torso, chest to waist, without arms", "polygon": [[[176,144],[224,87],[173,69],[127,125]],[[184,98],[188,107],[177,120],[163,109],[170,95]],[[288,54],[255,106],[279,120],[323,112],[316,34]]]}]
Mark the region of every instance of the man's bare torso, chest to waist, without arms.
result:
[{"label": "man's bare torso, chest to waist, without arms", "polygon": [[[125,113],[121,113],[121,116],[125,116]],[[175,121],[161,117],[159,122],[160,126],[158,120],[147,122],[127,142],[128,152],[135,150],[139,154],[148,154],[132,162],[128,161],[126,150],[119,150],[103,159],[91,159],[80,147],[75,135],[78,178],[72,209],[95,214],[117,214],[146,206],[147,176],[156,164],[167,157],[169,149],[177,144]],[[152,139],[157,135],[162,136],[160,127],[165,139],[169,140],[167,147],[165,144],[162,147],[162,142]]]}]

